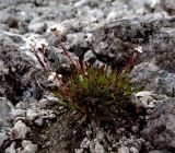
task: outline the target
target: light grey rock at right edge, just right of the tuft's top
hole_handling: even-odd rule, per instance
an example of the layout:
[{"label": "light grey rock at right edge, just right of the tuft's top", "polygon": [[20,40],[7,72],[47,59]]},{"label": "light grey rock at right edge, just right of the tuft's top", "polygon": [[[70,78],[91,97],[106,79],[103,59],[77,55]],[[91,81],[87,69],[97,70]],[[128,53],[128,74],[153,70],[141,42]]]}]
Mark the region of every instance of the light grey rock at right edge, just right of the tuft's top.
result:
[{"label": "light grey rock at right edge, just right of the tuft's top", "polygon": [[145,84],[145,90],[159,94],[174,96],[175,75],[168,71],[161,70],[153,62],[142,62],[133,68],[130,73],[131,81]]}]

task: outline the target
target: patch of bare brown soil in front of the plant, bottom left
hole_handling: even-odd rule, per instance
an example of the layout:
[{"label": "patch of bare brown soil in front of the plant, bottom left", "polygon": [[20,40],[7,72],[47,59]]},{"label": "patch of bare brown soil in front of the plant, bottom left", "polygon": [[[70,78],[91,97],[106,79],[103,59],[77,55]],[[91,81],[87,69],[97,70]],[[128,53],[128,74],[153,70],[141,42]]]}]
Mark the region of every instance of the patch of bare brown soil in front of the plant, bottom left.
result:
[{"label": "patch of bare brown soil in front of the plant, bottom left", "polygon": [[[33,126],[28,140],[38,145],[37,153],[73,153],[82,138],[71,125],[72,117],[60,115],[43,127]],[[79,136],[80,134],[80,136]]]}]

